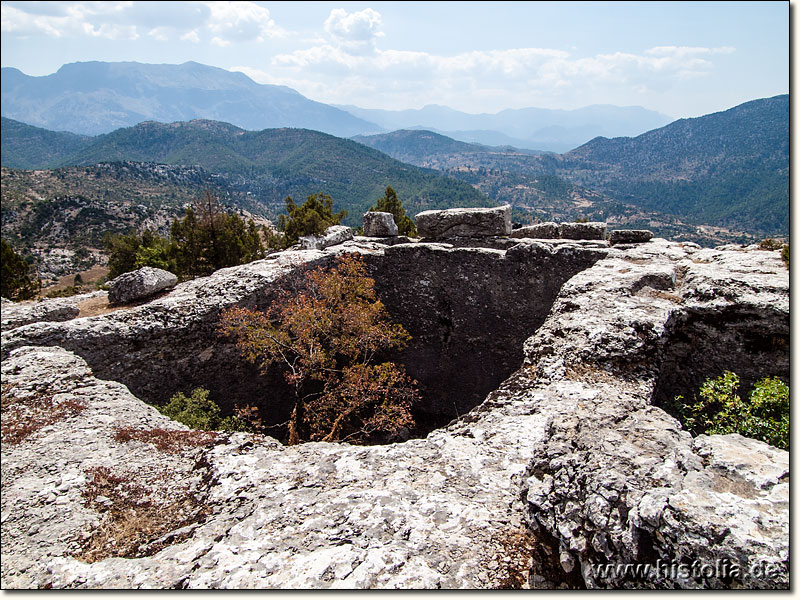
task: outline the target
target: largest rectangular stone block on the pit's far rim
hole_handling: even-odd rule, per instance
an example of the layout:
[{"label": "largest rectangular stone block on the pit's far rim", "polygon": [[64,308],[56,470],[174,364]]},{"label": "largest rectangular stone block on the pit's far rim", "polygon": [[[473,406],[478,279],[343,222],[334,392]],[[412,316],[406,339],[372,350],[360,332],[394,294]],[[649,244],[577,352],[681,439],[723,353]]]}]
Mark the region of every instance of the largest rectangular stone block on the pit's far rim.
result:
[{"label": "largest rectangular stone block on the pit's far rim", "polygon": [[490,237],[511,233],[511,207],[426,210],[414,217],[417,231],[433,240],[451,237]]}]

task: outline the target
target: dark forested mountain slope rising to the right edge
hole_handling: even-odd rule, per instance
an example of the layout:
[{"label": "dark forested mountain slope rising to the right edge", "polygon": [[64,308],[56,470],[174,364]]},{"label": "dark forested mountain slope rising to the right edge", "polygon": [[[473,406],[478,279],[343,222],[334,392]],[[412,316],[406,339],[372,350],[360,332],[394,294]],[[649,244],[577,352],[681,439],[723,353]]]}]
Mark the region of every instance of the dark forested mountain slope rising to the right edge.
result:
[{"label": "dark forested mountain slope rising to the right edge", "polygon": [[789,96],[680,119],[635,138],[597,138],[554,172],[618,200],[698,222],[789,233]]}]

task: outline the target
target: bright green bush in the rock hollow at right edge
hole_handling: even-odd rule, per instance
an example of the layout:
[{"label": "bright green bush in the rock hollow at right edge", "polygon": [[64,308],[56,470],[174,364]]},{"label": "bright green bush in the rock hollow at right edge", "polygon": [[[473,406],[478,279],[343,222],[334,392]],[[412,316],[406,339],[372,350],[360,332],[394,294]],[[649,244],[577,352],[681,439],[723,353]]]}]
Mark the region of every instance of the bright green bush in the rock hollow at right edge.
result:
[{"label": "bright green bush in the rock hollow at right edge", "polygon": [[693,434],[739,433],[789,449],[789,386],[777,377],[756,382],[747,401],[739,395],[739,377],[726,371],[700,386],[691,404],[675,398],[679,418]]}]

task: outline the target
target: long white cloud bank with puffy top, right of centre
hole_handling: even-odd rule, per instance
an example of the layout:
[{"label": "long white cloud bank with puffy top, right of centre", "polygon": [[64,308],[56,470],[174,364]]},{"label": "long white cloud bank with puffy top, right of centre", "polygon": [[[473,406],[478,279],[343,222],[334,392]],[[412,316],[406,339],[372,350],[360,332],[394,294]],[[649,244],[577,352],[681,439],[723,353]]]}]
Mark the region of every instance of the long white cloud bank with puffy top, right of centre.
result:
[{"label": "long white cloud bank with puffy top, right of centre", "polygon": [[[359,20],[356,14],[332,11],[325,22],[326,43],[278,54],[268,76],[251,76],[294,87],[322,102],[391,108],[437,103],[462,110],[488,103],[499,110],[512,104],[556,104],[576,94],[587,103],[600,93],[608,97],[609,91],[621,96],[633,90],[642,97],[706,77],[716,56],[734,51],[660,46],[640,53],[575,56],[560,49],[515,48],[444,56],[382,50],[374,44],[380,15]],[[370,45],[370,51],[354,52],[353,42]]]}]

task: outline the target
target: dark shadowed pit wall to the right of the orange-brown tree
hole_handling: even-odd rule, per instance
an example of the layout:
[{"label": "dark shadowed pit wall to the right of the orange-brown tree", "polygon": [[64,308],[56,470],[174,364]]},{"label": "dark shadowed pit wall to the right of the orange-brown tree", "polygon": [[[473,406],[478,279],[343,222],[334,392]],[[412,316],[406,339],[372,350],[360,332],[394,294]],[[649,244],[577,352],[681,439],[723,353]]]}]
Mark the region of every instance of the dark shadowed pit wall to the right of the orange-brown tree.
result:
[{"label": "dark shadowed pit wall to the right of the orange-brown tree", "polygon": [[561,286],[598,249],[519,244],[508,251],[435,244],[369,257],[380,298],[413,336],[397,360],[420,384],[438,424],[468,412],[520,367],[522,346]]}]

